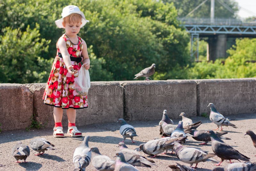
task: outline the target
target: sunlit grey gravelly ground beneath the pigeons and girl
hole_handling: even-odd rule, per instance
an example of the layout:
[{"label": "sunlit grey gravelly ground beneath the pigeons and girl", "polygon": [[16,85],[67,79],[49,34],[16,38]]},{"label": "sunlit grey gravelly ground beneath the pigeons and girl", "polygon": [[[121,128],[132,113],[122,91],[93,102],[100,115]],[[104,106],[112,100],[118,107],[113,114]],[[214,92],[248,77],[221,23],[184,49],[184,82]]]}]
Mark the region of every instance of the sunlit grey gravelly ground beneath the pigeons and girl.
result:
[{"label": "sunlit grey gravelly ground beneath the pigeons and girl", "polygon": [[[225,136],[231,138],[231,140],[224,140],[226,143],[234,147],[242,154],[251,158],[252,162],[256,162],[256,149],[252,145],[251,138],[246,135],[246,130],[250,129],[256,133],[256,114],[239,114],[229,115],[231,122],[238,128],[223,127],[224,131],[228,132]],[[204,124],[198,127],[198,130],[203,129],[215,129],[216,125],[211,123],[209,118],[205,117],[192,117],[193,122],[202,121]],[[178,124],[179,120],[173,120],[174,124]],[[125,144],[131,148],[138,148],[141,143],[148,140],[160,137],[158,130],[159,121],[132,121],[128,122],[133,125],[137,131],[139,137],[135,137],[134,141],[137,143],[132,144],[131,139],[126,139]],[[0,134],[0,170],[73,170],[73,153],[75,148],[80,145],[85,135],[90,136],[89,146],[97,146],[100,152],[104,155],[108,155],[114,159],[115,153],[119,151],[118,143],[122,141],[122,136],[119,134],[118,123],[105,123],[105,124],[92,124],[83,127],[78,127],[83,132],[83,137],[80,138],[54,138],[52,136],[53,130],[51,128],[43,128],[39,130],[15,130],[6,131]],[[66,132],[67,127],[63,128]],[[65,134],[66,135],[66,134]],[[35,151],[32,149],[30,156],[27,158],[28,163],[15,163],[14,157],[12,157],[12,147],[17,141],[22,141],[23,144],[29,144],[33,138],[46,138],[52,144],[55,145],[56,150],[48,150],[41,156],[35,156]],[[199,145],[200,142],[195,141],[193,138],[188,138],[186,146],[195,147],[212,153],[211,142],[208,145]],[[147,154],[140,152],[145,157],[149,157]],[[215,156],[216,160],[220,161],[220,158]],[[181,162],[175,154],[167,153],[166,155],[160,154],[153,159],[157,167],[137,167],[139,170],[152,171],[152,170],[171,170],[168,165],[176,164],[175,162],[189,164]],[[23,161],[23,160],[22,160]],[[239,162],[233,160],[234,162]],[[222,166],[228,165],[229,161],[225,160]],[[198,164],[198,171],[209,171],[212,169],[213,164],[210,162],[201,162]],[[96,170],[92,164],[90,164],[86,170]]]}]

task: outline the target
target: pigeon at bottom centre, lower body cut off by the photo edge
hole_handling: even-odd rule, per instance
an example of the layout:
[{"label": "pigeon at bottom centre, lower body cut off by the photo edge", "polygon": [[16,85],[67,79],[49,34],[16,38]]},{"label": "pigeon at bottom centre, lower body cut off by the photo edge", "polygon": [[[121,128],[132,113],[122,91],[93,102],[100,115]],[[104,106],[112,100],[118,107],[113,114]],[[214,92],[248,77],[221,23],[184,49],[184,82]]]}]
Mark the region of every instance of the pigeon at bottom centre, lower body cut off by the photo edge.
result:
[{"label": "pigeon at bottom centre, lower body cut off by the photo edge", "polygon": [[125,161],[124,154],[122,152],[117,152],[114,171],[139,171],[139,170]]}]

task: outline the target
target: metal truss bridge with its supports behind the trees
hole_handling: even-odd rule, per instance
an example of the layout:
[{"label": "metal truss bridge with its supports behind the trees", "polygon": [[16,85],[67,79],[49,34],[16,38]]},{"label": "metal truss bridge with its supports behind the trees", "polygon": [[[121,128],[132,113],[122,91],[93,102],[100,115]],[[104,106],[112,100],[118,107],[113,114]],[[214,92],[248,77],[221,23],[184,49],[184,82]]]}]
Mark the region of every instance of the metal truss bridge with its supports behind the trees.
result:
[{"label": "metal truss bridge with its supports behind the trees", "polygon": [[[207,60],[213,61],[218,57],[225,57],[227,37],[256,37],[256,20],[214,18],[215,0],[211,0],[211,18],[188,18],[206,1],[204,0],[194,10],[190,11],[186,17],[178,18],[181,25],[190,33],[190,56],[192,59],[196,58],[198,61],[199,37],[208,37]],[[217,1],[228,11],[234,13],[222,0]],[[197,42],[196,50],[193,47],[194,42]]]}]

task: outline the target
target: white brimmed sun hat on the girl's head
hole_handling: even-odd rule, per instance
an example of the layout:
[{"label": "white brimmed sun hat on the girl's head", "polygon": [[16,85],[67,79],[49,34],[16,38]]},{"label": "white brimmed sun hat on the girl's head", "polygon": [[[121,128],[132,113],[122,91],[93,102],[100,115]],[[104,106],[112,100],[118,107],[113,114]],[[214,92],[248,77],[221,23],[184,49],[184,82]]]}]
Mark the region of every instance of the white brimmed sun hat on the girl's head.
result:
[{"label": "white brimmed sun hat on the girl's head", "polygon": [[63,18],[69,16],[70,14],[73,13],[77,13],[80,14],[82,16],[82,24],[81,27],[83,27],[87,22],[89,22],[88,20],[85,19],[84,13],[82,11],[79,10],[79,8],[76,5],[68,5],[66,7],[63,8],[61,16],[61,19],[58,19],[55,21],[55,24],[59,27],[59,28],[64,28],[64,26],[62,25],[63,22]]}]

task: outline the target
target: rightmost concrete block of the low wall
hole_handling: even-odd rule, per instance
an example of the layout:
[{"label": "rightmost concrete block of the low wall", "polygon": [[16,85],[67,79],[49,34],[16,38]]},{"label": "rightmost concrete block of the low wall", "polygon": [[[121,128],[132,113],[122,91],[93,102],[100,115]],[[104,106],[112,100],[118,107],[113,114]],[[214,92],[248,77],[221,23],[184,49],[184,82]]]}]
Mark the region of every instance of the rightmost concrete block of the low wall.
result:
[{"label": "rightmost concrete block of the low wall", "polygon": [[202,79],[197,81],[197,112],[210,114],[209,103],[225,115],[256,112],[256,80]]}]

